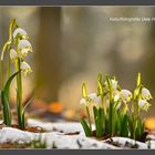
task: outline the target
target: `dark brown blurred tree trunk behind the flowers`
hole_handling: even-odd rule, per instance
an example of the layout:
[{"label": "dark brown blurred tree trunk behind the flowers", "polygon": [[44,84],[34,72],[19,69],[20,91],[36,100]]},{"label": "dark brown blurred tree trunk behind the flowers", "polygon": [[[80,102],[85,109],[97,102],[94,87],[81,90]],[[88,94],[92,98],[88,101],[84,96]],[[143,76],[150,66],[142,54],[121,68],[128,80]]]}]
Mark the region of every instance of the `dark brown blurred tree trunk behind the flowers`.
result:
[{"label": "dark brown blurred tree trunk behind the flowers", "polygon": [[61,8],[40,8],[40,30],[37,46],[37,94],[45,101],[56,101],[61,83],[60,25]]}]

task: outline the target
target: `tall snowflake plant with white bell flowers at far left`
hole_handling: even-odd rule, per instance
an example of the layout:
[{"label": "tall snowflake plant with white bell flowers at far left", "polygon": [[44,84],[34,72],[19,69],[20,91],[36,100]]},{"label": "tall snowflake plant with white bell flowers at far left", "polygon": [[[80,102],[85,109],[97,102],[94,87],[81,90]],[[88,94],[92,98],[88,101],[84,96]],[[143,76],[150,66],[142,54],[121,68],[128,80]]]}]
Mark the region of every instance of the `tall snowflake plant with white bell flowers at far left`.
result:
[{"label": "tall snowflake plant with white bell flowers at far left", "polygon": [[[1,73],[1,104],[3,112],[3,123],[8,126],[12,124],[12,115],[9,104],[10,84],[17,79],[17,114],[20,128],[25,127],[24,111],[29,102],[22,105],[22,76],[32,72],[31,66],[25,62],[25,56],[32,52],[27,32],[21,29],[16,19],[12,19],[9,27],[9,39],[4,43],[0,58]],[[4,56],[8,60],[7,75],[4,75]]]}]

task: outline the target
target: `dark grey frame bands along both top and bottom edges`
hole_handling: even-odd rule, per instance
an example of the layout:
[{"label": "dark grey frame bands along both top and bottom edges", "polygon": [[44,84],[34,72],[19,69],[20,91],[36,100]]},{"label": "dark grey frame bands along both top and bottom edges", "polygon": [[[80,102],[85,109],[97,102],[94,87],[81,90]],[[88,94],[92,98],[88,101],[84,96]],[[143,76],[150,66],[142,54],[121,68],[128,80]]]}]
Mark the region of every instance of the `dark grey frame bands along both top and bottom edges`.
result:
[{"label": "dark grey frame bands along both top and bottom edges", "polygon": [[[0,0],[0,6],[155,6],[155,0]],[[155,149],[0,149],[0,155],[52,155],[52,154],[102,154],[102,155],[154,155]]]}]

